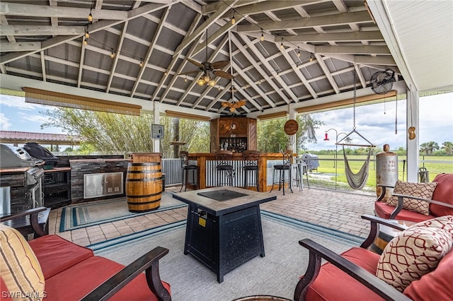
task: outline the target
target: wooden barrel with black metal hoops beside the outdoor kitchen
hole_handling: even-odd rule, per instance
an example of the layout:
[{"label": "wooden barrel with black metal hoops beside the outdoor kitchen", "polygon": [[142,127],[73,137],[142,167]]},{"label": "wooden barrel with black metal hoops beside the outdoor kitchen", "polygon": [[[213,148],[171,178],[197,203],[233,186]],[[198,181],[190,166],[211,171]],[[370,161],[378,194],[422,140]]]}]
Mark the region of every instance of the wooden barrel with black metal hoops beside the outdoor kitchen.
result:
[{"label": "wooden barrel with black metal hoops beside the outdoor kitchen", "polygon": [[130,212],[151,211],[161,206],[161,162],[129,163],[126,174],[127,207]]}]

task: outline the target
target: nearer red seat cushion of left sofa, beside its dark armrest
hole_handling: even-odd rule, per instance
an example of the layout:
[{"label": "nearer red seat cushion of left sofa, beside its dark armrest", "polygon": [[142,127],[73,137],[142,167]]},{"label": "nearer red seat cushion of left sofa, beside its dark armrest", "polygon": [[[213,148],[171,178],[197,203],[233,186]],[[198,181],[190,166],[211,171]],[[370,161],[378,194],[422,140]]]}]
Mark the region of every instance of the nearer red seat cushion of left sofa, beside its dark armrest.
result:
[{"label": "nearer red seat cushion of left sofa, beside its dark armrest", "polygon": [[[75,266],[71,266],[58,275],[48,278],[45,281],[45,290],[48,301],[51,300],[80,300],[86,294],[90,293],[93,288],[103,283],[124,266],[115,261],[110,261],[100,256],[93,256],[81,261]],[[165,283],[164,287],[170,292],[170,285]],[[147,285],[147,279],[144,273],[134,278],[110,300],[153,300],[157,298],[151,293]]]}]

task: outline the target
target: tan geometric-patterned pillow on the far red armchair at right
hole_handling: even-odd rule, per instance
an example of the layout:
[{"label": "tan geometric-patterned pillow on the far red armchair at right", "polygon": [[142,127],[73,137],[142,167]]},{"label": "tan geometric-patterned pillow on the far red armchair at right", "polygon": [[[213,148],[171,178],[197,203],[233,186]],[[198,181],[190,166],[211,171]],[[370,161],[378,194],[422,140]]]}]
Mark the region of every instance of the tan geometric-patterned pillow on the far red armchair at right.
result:
[{"label": "tan geometric-patterned pillow on the far red armchair at right", "polygon": [[[436,189],[437,182],[431,183],[411,183],[396,181],[394,194],[406,194],[408,196],[418,196],[419,198],[428,199],[432,198],[432,194]],[[390,206],[398,205],[398,198],[396,196],[391,196],[387,201],[387,204]],[[430,203],[427,201],[419,201],[415,199],[404,198],[403,199],[403,208],[422,213],[425,216],[430,214]]]}]

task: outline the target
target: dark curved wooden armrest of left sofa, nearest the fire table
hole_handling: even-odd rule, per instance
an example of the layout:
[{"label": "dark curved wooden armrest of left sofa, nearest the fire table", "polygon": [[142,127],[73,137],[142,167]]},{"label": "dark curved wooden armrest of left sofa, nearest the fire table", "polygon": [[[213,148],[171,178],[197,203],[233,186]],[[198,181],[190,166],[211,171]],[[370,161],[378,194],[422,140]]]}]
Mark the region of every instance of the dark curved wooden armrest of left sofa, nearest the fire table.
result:
[{"label": "dark curved wooden armrest of left sofa, nearest the fire table", "polygon": [[159,275],[159,259],[168,254],[168,249],[164,247],[156,247],[144,254],[142,257],[132,262],[132,264],[125,266],[121,271],[117,272],[108,280],[104,281],[101,285],[88,293],[82,300],[108,300],[115,295],[132,279],[139,276],[140,273],[145,271],[147,276],[148,286],[159,301],[171,301],[171,295],[164,288]]}]

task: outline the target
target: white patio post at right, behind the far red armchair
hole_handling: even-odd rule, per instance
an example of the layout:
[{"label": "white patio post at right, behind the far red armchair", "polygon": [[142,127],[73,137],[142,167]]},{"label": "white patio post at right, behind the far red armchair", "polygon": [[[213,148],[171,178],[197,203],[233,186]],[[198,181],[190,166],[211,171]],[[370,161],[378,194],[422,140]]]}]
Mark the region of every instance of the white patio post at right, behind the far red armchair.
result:
[{"label": "white patio post at right, behind the far red armchair", "polygon": [[418,182],[418,166],[420,151],[420,127],[419,127],[419,98],[418,90],[409,86],[407,91],[406,102],[406,128],[415,127],[415,138],[409,139],[409,132],[406,131],[406,149],[407,149],[407,179],[408,182]]}]

